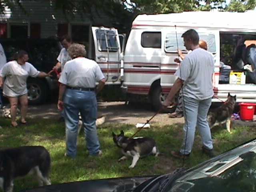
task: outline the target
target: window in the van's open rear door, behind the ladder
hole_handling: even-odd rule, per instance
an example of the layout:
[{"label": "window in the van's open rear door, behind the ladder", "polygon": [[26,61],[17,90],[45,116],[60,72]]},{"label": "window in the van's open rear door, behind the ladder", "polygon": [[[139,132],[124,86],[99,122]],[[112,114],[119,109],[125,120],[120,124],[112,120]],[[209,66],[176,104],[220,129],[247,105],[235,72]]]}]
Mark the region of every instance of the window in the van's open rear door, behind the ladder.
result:
[{"label": "window in the van's open rear door, behind the ladder", "polygon": [[99,51],[118,51],[116,33],[112,30],[96,30],[97,46]]}]

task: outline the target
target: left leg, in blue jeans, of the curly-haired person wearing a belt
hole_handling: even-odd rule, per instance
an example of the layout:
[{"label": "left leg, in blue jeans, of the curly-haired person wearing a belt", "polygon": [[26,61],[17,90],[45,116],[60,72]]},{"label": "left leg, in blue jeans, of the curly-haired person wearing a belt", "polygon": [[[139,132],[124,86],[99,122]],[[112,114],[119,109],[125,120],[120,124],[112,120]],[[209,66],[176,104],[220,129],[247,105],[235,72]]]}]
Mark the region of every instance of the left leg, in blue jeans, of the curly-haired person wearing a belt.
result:
[{"label": "left leg, in blue jeans, of the curly-haired person wearing a belt", "polygon": [[64,113],[66,124],[66,155],[76,157],[76,142],[78,130],[78,107],[76,102],[76,92],[66,90],[64,95]]}]

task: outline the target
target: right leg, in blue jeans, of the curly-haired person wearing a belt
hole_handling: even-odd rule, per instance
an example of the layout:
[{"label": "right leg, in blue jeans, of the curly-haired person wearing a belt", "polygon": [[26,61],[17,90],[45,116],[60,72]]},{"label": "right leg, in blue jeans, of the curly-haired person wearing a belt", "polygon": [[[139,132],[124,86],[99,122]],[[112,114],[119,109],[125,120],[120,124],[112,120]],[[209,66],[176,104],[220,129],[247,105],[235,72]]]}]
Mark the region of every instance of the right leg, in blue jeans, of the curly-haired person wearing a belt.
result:
[{"label": "right leg, in blue jeans, of the curly-haired person wearing a belt", "polygon": [[86,92],[81,100],[80,113],[84,125],[86,146],[90,155],[98,155],[100,152],[100,142],[96,129],[97,100],[95,92]]}]

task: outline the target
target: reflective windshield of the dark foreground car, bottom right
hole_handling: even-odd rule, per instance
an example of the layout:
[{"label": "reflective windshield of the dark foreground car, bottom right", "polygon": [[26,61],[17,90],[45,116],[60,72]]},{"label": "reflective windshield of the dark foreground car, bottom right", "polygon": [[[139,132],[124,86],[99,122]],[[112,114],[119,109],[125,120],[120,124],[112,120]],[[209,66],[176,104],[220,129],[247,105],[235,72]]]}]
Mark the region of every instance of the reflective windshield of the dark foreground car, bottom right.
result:
[{"label": "reflective windshield of the dark foreground car, bottom right", "polygon": [[256,140],[253,140],[187,170],[170,191],[254,191],[255,181]]}]

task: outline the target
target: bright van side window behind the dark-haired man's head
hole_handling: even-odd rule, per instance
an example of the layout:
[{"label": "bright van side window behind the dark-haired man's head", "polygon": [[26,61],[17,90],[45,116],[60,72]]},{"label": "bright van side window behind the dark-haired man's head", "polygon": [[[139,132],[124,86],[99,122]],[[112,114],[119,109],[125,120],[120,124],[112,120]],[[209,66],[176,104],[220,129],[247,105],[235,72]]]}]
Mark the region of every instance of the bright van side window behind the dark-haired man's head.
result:
[{"label": "bright van side window behind the dark-haired man's head", "polygon": [[[206,33],[198,33],[199,40],[204,40],[207,42],[208,51],[212,54],[216,53],[216,45],[215,45],[215,36],[214,34],[206,34]],[[186,51],[184,46],[183,38],[181,37],[182,33],[177,33],[178,38],[178,48],[177,48],[177,40],[175,33],[168,33],[166,35],[164,50],[166,52],[177,52],[178,49],[182,51]]]}]

